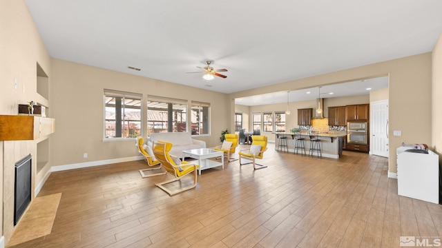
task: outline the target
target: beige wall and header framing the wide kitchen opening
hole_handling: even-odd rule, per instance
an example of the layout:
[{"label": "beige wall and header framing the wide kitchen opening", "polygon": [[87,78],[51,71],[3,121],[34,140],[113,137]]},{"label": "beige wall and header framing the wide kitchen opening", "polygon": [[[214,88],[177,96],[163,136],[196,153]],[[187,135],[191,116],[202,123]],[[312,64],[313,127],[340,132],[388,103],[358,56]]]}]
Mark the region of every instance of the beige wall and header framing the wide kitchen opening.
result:
[{"label": "beige wall and header framing the wide kitchen opening", "polygon": [[[299,90],[307,87],[317,87],[378,76],[390,76],[389,171],[396,173],[396,147],[400,146],[402,142],[431,143],[431,69],[432,53],[427,52],[425,54],[417,54],[401,59],[236,92],[231,94],[231,98],[236,99],[244,96]],[[410,118],[410,113],[413,116],[412,118]],[[402,136],[392,136],[393,130],[401,130]]]}]

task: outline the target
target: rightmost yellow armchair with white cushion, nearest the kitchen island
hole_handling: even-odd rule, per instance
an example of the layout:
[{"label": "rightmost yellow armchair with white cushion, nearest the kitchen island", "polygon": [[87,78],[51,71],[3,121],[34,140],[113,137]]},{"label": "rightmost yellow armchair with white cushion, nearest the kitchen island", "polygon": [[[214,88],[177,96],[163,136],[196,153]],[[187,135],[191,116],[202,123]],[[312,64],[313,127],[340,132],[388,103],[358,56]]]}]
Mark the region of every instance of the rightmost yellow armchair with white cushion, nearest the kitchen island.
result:
[{"label": "rightmost yellow armchair with white cushion, nearest the kitchen island", "polygon": [[[260,165],[256,163],[256,159],[261,159],[265,151],[267,151],[267,136],[253,135],[253,142],[251,143],[250,148],[242,149],[239,152],[240,166],[253,163],[253,169],[262,169],[267,167],[267,165]],[[251,162],[242,164],[241,158],[247,159]]]}]

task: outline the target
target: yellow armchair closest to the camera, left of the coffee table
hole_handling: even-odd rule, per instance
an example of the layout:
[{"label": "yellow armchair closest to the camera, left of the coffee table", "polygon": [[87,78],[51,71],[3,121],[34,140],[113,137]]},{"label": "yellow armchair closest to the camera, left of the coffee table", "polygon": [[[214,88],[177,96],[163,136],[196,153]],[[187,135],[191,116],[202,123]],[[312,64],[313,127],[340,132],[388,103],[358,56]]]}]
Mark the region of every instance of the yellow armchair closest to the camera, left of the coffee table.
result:
[{"label": "yellow armchair closest to the camera, left of the coffee table", "polygon": [[[197,174],[198,174],[197,172],[198,172],[198,167],[200,167],[200,166],[197,164],[194,164],[194,163],[186,162],[186,161],[179,161],[179,159],[177,159],[177,161],[175,162],[175,160],[172,158],[172,156],[169,155],[171,148],[172,148],[172,143],[165,142],[165,141],[157,141],[153,145],[153,154],[155,154],[155,158],[157,158],[157,160],[160,161],[160,163],[163,165],[164,169],[166,169],[166,172],[169,172],[175,176],[175,178],[173,178],[171,180],[166,180],[162,183],[157,183],[155,185],[157,187],[159,187],[160,189],[164,190],[170,196],[173,196],[175,194],[178,194],[178,193],[184,192],[188,189],[193,189],[194,187],[196,187]],[[181,178],[183,176],[186,176],[187,174],[190,174],[191,172],[193,172],[193,176],[194,176],[193,185],[183,187],[183,188],[177,189],[175,191],[171,191],[171,189],[164,187],[164,185],[166,185],[168,183],[173,183],[178,180],[181,180]]]}]

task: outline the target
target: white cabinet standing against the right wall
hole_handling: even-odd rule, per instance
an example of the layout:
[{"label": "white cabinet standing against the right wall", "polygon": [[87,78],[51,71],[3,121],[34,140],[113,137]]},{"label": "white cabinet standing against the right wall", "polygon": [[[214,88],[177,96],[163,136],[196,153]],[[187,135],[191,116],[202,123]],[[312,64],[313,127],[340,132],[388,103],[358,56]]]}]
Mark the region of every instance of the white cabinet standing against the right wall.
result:
[{"label": "white cabinet standing against the right wall", "polygon": [[398,195],[439,204],[439,156],[405,152],[410,147],[398,147]]}]

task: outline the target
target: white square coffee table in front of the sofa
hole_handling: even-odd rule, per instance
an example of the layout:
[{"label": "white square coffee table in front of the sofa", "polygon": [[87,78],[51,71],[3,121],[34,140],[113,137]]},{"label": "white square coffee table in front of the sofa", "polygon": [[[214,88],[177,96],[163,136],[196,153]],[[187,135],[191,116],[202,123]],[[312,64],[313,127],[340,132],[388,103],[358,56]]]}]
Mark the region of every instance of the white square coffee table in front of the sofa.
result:
[{"label": "white square coffee table in front of the sofa", "polygon": [[[216,151],[214,149],[209,149],[209,148],[190,149],[182,151],[183,161],[184,157],[198,159],[198,165],[200,165],[198,172],[200,175],[202,169],[210,169],[217,166],[222,166],[222,169],[224,169],[224,152]],[[209,159],[209,158],[218,158],[218,157],[221,157],[221,162]]]}]

